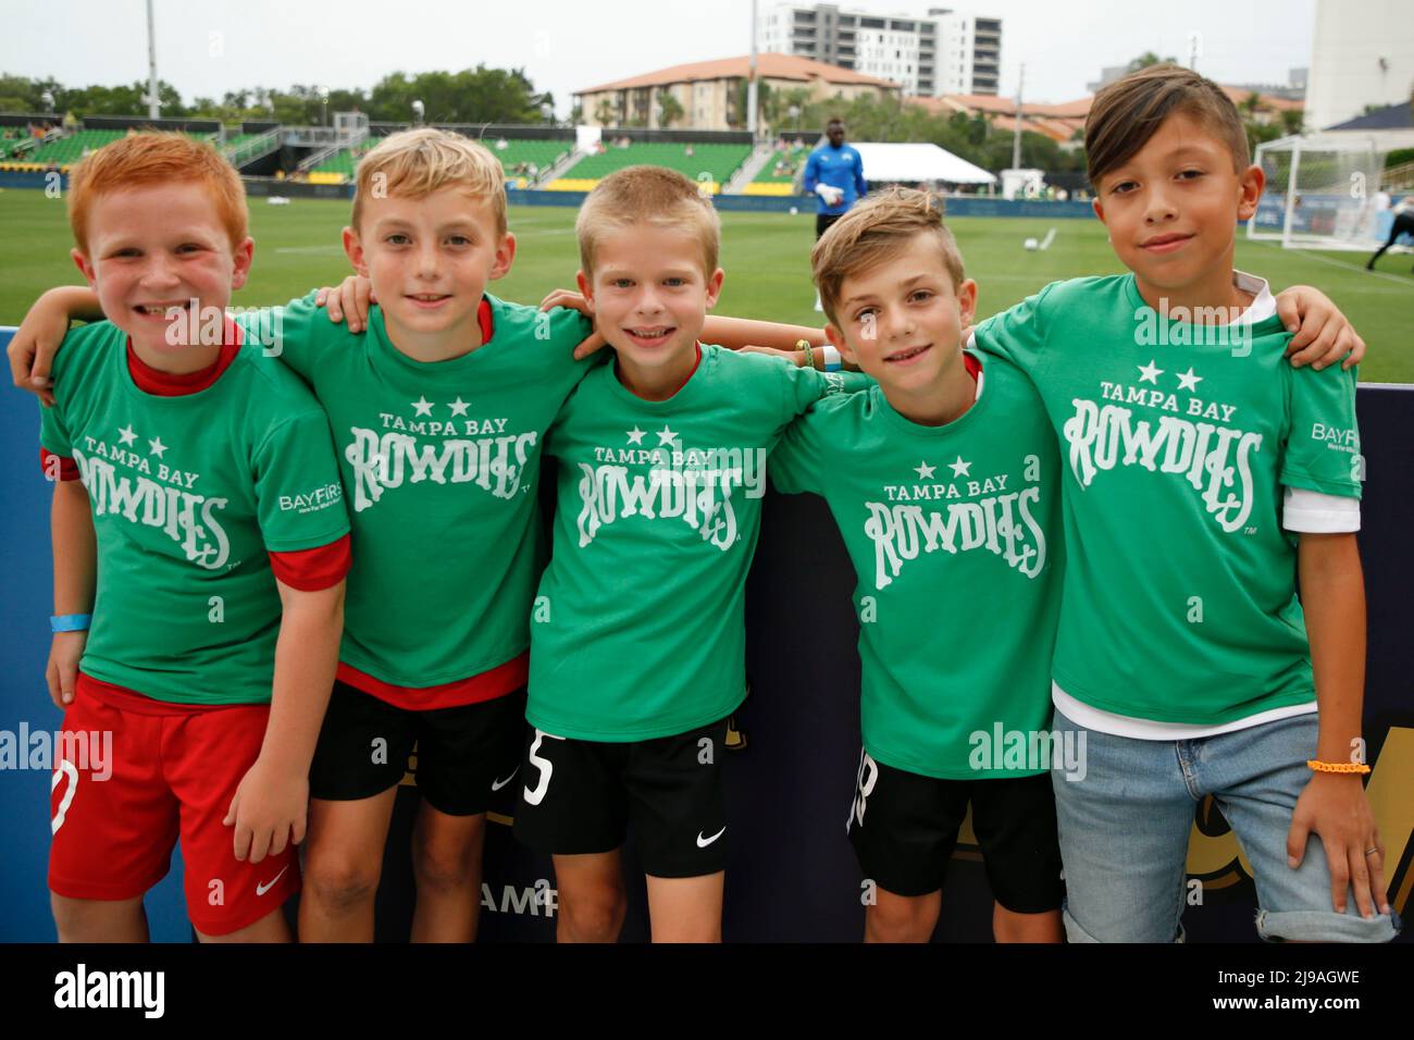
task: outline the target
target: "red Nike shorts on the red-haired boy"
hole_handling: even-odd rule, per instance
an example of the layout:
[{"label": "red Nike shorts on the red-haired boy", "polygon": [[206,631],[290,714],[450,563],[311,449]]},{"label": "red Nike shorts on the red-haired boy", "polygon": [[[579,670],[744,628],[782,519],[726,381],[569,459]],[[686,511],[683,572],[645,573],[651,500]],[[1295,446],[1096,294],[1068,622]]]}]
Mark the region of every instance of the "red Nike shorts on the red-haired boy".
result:
[{"label": "red Nike shorts on the red-haired boy", "polygon": [[181,836],[187,914],[229,935],[300,890],[294,845],[260,863],[235,856],[222,821],[264,739],[269,705],[171,705],[79,676],[64,713],[49,814],[49,890],[124,900],[167,876]]}]

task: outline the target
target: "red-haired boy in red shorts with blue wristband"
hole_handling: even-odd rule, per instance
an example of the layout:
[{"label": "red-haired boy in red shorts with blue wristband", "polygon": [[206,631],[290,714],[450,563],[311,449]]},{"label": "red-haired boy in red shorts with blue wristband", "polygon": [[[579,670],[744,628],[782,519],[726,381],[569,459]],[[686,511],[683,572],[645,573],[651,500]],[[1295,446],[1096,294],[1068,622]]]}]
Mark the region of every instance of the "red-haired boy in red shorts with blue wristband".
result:
[{"label": "red-haired boy in red shorts with blue wristband", "polygon": [[209,144],[141,133],[95,151],[69,216],[107,321],[68,337],[42,412],[47,678],[64,730],[110,733],[116,763],[55,770],[55,924],[62,941],[146,940],[143,894],[180,835],[201,940],[286,941],[349,566],[328,419],[225,320],[253,243]]}]

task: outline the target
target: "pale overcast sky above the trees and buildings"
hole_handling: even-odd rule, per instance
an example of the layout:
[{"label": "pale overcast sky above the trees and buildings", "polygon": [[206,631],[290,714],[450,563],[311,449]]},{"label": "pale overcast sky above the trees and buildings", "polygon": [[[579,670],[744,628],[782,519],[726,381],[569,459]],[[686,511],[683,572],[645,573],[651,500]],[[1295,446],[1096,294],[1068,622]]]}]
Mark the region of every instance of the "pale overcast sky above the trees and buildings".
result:
[{"label": "pale overcast sky above the trees and buildings", "polygon": [[[1326,0],[1329,1],[1329,0]],[[751,48],[749,0],[153,0],[157,71],[185,102],[247,86],[370,88],[395,71],[523,68],[536,89],[570,95],[622,76]],[[773,0],[759,0],[762,8]],[[1316,0],[980,0],[956,4],[1003,20],[1001,93],[1021,62],[1025,96],[1082,96],[1106,65],[1144,51],[1186,61],[1220,82],[1285,83],[1311,61]],[[841,7],[922,16],[940,0]],[[144,0],[6,0],[0,72],[65,85],[147,78]],[[428,113],[436,117],[434,113]]]}]

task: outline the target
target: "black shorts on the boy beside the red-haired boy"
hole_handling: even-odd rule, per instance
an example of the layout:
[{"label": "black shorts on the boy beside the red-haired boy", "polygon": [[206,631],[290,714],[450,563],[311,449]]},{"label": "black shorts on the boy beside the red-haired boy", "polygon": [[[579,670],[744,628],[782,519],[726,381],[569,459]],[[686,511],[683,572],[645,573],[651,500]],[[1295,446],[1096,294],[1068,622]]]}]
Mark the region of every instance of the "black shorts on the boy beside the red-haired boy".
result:
[{"label": "black shorts on the boy beside the red-haired boy", "polygon": [[396,787],[417,747],[417,790],[448,816],[485,812],[520,764],[525,688],[493,700],[414,712],[334,683],[310,765],[310,797],[372,798]]}]

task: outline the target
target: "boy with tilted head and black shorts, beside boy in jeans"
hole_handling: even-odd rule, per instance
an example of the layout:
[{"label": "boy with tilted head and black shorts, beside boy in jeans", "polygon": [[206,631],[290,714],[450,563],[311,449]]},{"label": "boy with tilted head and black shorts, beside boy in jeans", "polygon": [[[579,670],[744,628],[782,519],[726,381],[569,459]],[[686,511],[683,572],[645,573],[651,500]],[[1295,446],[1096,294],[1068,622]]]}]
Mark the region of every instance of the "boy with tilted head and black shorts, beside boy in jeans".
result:
[{"label": "boy with tilted head and black shorts, beside boy in jeans", "polygon": [[[771,475],[824,497],[858,574],[864,750],[847,828],[877,890],[865,940],[932,937],[970,802],[997,940],[1059,942],[1060,464],[1045,409],[1011,364],[963,352],[977,284],[923,192],[855,207],[812,262],[830,341],[878,385],[813,406]],[[978,606],[988,620],[959,642]]]}]

